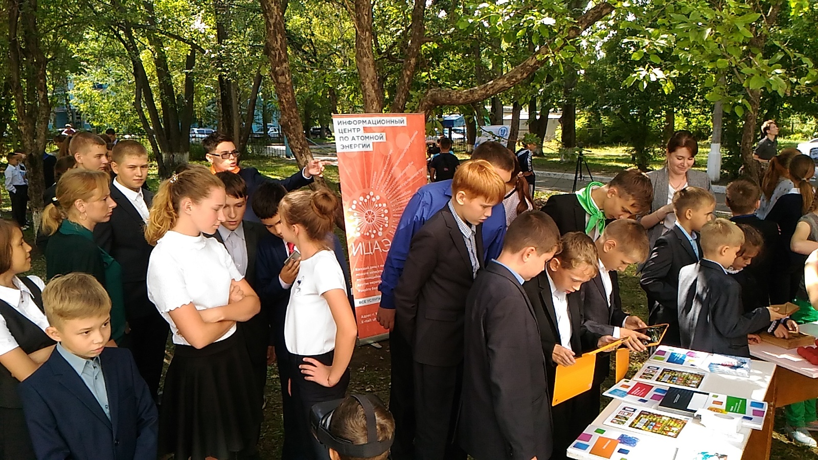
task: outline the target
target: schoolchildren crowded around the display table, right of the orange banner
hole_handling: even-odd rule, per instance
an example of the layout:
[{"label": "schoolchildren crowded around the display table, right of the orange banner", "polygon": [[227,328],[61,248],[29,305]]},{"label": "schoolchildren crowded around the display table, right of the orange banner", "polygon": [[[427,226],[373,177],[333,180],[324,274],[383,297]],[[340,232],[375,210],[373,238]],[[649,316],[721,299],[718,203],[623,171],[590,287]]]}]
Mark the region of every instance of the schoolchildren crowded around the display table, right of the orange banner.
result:
[{"label": "schoolchildren crowded around the display table, right of the orange banner", "polygon": [[[767,196],[778,220],[755,215],[762,189],[753,181],[727,187],[732,219],[714,218],[712,192],[685,187],[672,198],[674,225],[651,247],[636,219],[649,211],[654,186],[636,170],[551,196],[542,211],[523,212],[506,227],[498,214],[515,158],[490,144],[476,148],[451,182],[420,189],[386,260],[378,315],[392,331],[393,458],[566,458],[600,412],[610,358],[596,355],[591,390],[553,405],[557,366],[618,339],[647,350],[640,329],[649,325],[667,325],[665,345],[743,357],[771,325],[775,336],[798,331],[771,307],[775,295],[758,292],[775,291],[770,280],[789,275],[798,279],[785,286],[795,287],[778,303],[798,297],[801,281],[808,304],[803,260],[798,269],[789,250],[796,234],[805,241],[793,238],[793,250],[797,242],[818,249],[818,238],[806,241],[818,236],[818,218],[799,221],[816,208],[808,157],[771,178],[789,182]],[[777,260],[785,265],[772,268]],[[622,310],[618,272],[633,264],[649,301],[647,322]],[[790,410],[814,422],[814,404],[806,416]]]}]

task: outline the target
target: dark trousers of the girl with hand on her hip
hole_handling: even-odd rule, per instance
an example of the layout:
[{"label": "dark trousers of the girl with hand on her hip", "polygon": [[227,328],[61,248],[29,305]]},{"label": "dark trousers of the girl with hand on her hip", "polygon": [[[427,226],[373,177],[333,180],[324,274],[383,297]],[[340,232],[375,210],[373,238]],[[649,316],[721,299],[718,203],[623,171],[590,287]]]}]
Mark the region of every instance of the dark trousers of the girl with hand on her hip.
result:
[{"label": "dark trousers of the girl with hand on her hip", "polygon": [[327,388],[314,381],[308,381],[301,372],[299,366],[304,363],[304,358],[317,359],[318,362],[329,366],[335,350],[316,356],[301,356],[290,354],[290,390],[292,391],[295,425],[297,426],[298,446],[303,450],[303,457],[308,460],[330,460],[330,451],[318,442],[310,431],[310,412],[312,406],[333,399],[344,399],[349,385],[349,368],[344,372],[344,377],[333,387]]}]

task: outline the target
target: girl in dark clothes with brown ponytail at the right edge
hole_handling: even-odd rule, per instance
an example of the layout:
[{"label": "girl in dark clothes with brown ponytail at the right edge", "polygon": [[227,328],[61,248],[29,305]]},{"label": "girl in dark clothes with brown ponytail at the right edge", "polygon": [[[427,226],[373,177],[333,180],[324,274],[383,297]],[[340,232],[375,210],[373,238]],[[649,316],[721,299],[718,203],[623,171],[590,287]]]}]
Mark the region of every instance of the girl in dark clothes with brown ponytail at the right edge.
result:
[{"label": "girl in dark clothes with brown ponytail at the right edge", "polygon": [[777,248],[773,259],[776,278],[770,290],[773,304],[789,302],[798,292],[806,257],[793,252],[792,241],[799,219],[807,214],[815,198],[815,190],[810,183],[815,171],[815,162],[809,156],[793,156],[789,162],[789,181],[792,186],[775,201],[764,219],[777,223],[781,232],[781,247]]}]

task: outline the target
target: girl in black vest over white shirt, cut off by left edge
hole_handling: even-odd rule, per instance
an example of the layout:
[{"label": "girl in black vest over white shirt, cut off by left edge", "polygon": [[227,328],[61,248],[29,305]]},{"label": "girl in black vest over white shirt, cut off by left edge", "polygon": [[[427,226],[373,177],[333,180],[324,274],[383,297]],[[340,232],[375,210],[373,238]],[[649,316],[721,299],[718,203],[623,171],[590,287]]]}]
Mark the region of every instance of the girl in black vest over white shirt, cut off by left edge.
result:
[{"label": "girl in black vest over white shirt, cut off by left edge", "polygon": [[0,220],[0,458],[14,460],[35,458],[17,385],[51,356],[55,345],[45,333],[43,280],[17,277],[31,268],[30,252],[20,226]]}]

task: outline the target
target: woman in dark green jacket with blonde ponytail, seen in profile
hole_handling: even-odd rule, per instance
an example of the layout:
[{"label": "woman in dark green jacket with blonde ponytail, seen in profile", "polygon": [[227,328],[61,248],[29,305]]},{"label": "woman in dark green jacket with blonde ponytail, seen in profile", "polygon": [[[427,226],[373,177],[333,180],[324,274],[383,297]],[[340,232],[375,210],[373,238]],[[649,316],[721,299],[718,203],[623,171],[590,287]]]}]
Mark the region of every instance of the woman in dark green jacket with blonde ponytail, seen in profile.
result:
[{"label": "woman in dark green jacket with blonde ponytail, seen in profile", "polygon": [[116,207],[110,198],[110,176],[103,171],[72,169],[56,184],[56,197],[43,210],[48,279],[66,273],[88,273],[110,296],[111,340],[125,335],[122,267],[94,242],[97,223],[107,222]]}]

